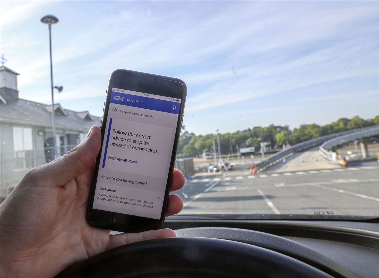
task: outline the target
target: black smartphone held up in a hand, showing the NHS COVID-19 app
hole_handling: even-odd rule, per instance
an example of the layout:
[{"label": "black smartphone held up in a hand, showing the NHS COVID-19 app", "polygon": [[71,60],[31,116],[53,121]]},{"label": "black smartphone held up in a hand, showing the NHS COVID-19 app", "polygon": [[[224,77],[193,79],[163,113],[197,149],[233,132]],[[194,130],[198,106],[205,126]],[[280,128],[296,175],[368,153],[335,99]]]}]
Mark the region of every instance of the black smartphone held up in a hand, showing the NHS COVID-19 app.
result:
[{"label": "black smartphone held up in a hand, showing the NHS COVID-19 app", "polygon": [[176,78],[123,69],[111,74],[90,225],[127,233],[163,228],[186,94]]}]

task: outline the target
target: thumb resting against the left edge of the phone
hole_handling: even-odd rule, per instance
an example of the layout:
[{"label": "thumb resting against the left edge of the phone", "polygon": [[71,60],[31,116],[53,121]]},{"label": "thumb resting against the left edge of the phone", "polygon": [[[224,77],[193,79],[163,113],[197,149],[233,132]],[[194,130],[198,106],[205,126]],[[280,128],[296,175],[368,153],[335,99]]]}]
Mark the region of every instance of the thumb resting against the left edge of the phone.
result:
[{"label": "thumb resting against the left edge of the phone", "polygon": [[75,148],[31,171],[47,181],[49,186],[62,186],[85,172],[93,164],[99,154],[100,146],[101,131],[94,125],[89,129],[86,138]]}]

